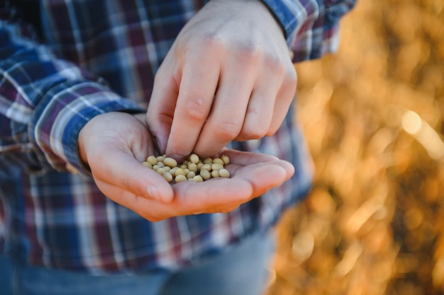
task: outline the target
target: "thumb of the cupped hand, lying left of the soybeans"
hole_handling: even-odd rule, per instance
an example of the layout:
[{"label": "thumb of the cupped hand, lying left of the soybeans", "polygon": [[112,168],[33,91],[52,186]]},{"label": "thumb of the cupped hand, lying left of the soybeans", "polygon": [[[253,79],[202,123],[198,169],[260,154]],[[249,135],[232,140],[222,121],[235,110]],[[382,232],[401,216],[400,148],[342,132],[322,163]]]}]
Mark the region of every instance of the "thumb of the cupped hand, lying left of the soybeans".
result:
[{"label": "thumb of the cupped hand, lying left of the soybeans", "polygon": [[172,188],[162,175],[135,161],[131,153],[113,149],[112,146],[108,152],[113,155],[112,161],[109,161],[109,158],[101,158],[102,154],[96,154],[96,163],[100,163],[101,166],[91,167],[96,180],[114,185],[134,195],[166,203],[172,201]]}]

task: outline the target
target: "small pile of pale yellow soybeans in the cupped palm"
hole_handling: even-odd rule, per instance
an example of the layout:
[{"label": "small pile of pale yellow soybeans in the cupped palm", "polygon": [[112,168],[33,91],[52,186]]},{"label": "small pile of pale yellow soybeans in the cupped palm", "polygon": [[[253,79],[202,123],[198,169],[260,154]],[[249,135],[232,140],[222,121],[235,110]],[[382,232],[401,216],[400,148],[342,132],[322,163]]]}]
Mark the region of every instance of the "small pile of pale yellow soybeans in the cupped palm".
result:
[{"label": "small pile of pale yellow soybeans in the cupped palm", "polygon": [[162,175],[168,183],[201,183],[211,178],[230,178],[230,172],[225,168],[229,163],[230,158],[226,155],[220,158],[200,158],[197,154],[191,154],[182,163],[177,163],[167,155],[148,156],[143,165]]}]

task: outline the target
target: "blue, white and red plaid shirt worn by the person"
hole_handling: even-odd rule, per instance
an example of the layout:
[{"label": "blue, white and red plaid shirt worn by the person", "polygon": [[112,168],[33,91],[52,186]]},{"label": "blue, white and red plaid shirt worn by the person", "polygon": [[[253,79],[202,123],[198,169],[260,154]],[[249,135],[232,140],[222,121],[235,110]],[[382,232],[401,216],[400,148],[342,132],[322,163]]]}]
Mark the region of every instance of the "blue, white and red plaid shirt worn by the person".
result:
[{"label": "blue, white and red plaid shirt worn by the person", "polygon": [[[335,50],[349,0],[263,0],[294,62]],[[32,265],[91,273],[174,269],[266,231],[311,185],[290,110],[277,134],[233,143],[294,164],[292,180],[228,214],[152,223],[83,175],[79,129],[95,115],[143,111],[192,0],[0,0],[0,250]],[[148,3],[145,5],[145,3]],[[37,13],[40,9],[40,14]]]}]

